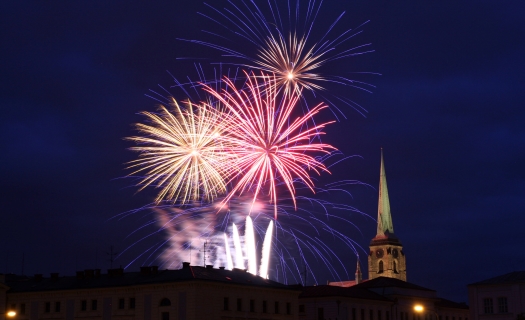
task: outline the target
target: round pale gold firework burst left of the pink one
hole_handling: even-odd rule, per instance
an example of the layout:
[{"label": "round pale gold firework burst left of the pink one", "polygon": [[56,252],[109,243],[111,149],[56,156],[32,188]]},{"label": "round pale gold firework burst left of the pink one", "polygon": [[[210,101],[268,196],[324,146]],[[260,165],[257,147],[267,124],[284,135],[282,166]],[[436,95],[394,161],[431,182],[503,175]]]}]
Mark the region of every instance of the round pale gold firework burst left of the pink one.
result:
[{"label": "round pale gold firework burst left of the pink one", "polygon": [[173,112],[163,106],[159,114],[143,112],[150,124],[137,124],[143,135],[127,138],[138,144],[130,149],[140,153],[139,159],[129,162],[135,169],[131,175],[146,172],[140,190],[149,185],[160,188],[157,203],[211,201],[226,192],[225,164],[235,155],[225,152],[219,112],[205,104],[194,110],[188,102],[186,107],[183,110],[173,100]]}]

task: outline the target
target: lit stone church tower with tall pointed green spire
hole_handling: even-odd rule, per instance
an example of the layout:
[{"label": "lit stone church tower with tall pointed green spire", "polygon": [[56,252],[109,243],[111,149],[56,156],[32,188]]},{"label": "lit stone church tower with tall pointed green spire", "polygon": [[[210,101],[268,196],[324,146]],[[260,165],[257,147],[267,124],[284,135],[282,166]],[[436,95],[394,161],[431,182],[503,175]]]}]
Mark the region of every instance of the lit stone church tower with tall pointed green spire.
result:
[{"label": "lit stone church tower with tall pointed green spire", "polygon": [[368,279],[371,280],[377,277],[389,277],[407,281],[406,258],[403,252],[403,245],[394,235],[392,215],[390,214],[383,149],[381,149],[377,234],[370,241],[370,253],[368,254]]}]

